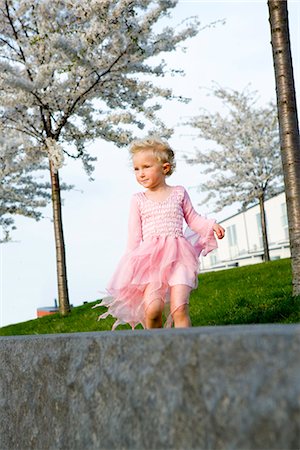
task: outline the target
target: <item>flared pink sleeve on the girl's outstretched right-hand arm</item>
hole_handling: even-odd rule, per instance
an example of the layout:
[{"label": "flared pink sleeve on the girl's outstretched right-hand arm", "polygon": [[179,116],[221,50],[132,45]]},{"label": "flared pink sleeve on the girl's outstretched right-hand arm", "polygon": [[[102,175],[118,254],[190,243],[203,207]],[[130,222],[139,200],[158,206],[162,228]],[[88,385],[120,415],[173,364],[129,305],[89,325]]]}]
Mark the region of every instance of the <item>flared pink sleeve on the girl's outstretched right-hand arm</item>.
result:
[{"label": "flared pink sleeve on the girl's outstretched right-hand arm", "polygon": [[205,256],[218,247],[213,231],[215,220],[200,216],[193,208],[191,199],[186,191],[183,197],[183,215],[189,227],[184,235],[191,242],[198,255],[202,253]]}]

